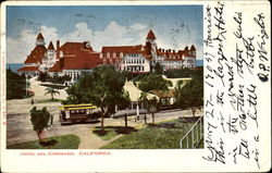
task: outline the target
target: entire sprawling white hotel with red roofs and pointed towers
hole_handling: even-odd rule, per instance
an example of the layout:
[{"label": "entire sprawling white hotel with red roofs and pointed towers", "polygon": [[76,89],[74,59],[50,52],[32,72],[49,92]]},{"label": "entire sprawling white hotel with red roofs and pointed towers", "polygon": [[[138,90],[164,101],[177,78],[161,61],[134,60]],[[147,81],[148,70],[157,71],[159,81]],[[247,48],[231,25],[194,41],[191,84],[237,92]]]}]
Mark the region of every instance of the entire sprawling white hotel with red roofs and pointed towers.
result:
[{"label": "entire sprawling white hotel with red roofs and pointed towers", "polygon": [[39,33],[34,50],[17,72],[30,76],[41,72],[49,75],[69,75],[74,83],[83,73],[90,73],[94,67],[102,64],[112,64],[119,71],[132,73],[151,72],[157,63],[160,63],[164,71],[196,67],[194,45],[184,50],[166,50],[158,48],[156,39],[150,29],[145,45],[102,47],[101,51],[95,52],[88,41],[65,42],[61,46],[58,40],[55,48],[50,41],[46,48],[45,38]]}]

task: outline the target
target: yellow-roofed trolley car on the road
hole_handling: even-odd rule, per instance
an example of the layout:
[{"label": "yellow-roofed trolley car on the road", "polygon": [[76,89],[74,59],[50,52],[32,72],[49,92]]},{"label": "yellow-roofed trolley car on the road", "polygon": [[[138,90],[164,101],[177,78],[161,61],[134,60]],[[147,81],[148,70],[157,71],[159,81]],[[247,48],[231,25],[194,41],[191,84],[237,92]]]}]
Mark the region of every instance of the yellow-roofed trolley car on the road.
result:
[{"label": "yellow-roofed trolley car on the road", "polygon": [[61,124],[84,123],[97,121],[95,114],[97,107],[91,103],[87,104],[65,104],[59,107]]}]

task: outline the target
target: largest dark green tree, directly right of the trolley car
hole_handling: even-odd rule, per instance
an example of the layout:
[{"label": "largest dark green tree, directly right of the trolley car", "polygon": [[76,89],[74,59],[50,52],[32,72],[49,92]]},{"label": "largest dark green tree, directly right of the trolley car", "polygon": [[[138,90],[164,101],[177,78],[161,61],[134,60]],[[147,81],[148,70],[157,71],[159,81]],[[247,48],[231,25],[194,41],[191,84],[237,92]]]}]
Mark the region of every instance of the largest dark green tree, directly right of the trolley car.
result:
[{"label": "largest dark green tree, directly right of the trolley car", "polygon": [[115,104],[124,96],[125,77],[112,65],[101,65],[94,69],[89,75],[84,75],[72,87],[66,89],[69,95],[64,103],[90,102],[101,110],[101,128],[107,114],[114,112]]}]

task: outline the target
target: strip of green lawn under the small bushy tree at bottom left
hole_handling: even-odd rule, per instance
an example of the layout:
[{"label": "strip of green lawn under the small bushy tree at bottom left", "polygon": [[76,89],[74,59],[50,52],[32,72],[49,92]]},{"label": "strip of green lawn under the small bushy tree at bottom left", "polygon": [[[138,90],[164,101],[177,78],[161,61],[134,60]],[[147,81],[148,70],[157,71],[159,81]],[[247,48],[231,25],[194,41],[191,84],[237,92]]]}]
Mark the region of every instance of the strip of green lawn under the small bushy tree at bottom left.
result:
[{"label": "strip of green lawn under the small bushy tree at bottom left", "polygon": [[44,145],[39,140],[32,140],[8,146],[8,149],[77,149],[81,139],[76,135],[63,135],[45,138]]}]

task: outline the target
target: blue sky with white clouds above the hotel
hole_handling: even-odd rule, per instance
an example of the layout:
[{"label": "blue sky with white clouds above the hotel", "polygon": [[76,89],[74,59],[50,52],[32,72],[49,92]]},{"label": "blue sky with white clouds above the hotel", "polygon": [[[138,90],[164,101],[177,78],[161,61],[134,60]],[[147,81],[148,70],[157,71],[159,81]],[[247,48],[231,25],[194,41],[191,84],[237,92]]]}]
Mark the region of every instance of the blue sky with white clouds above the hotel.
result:
[{"label": "blue sky with white clouds above the hotel", "polygon": [[103,46],[145,45],[149,29],[158,48],[195,45],[202,59],[202,5],[10,5],[7,8],[7,62],[23,63],[39,32],[50,41]]}]

